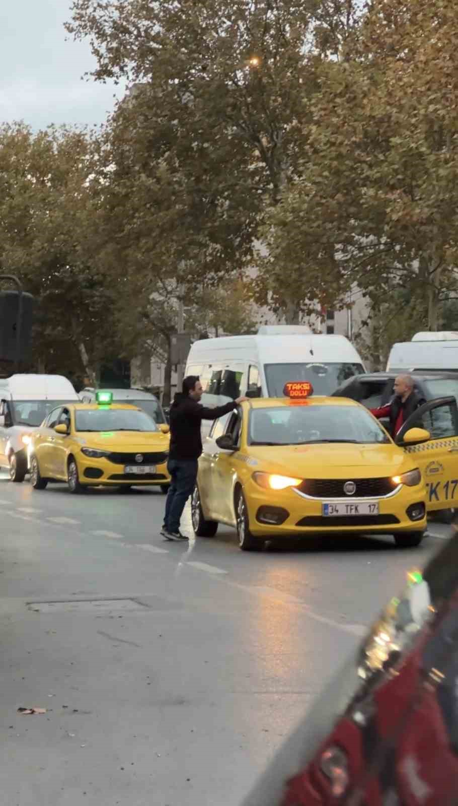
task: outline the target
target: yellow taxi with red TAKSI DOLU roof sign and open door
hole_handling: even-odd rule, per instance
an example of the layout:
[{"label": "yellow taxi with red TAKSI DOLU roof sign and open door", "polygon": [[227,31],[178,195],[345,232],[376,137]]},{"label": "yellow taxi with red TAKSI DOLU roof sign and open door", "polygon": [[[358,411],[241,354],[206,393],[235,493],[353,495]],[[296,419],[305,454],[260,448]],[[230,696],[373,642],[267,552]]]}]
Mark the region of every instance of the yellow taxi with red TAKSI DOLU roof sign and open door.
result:
[{"label": "yellow taxi with red TAKSI DOLU roof sign and open door", "polygon": [[[458,505],[455,398],[429,401],[397,444],[364,406],[311,397],[247,401],[214,422],[192,496],[197,535],[235,526],[243,550],[291,534],[392,534],[418,546],[427,510]],[[422,427],[419,427],[422,426]]]}]

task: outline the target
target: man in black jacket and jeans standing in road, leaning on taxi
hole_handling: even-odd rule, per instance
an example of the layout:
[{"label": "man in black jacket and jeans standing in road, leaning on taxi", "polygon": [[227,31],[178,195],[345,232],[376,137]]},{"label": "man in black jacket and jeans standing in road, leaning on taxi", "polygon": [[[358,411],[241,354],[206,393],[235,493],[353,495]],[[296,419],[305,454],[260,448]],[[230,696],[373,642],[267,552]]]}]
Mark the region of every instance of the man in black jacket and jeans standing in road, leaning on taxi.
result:
[{"label": "man in black jacket and jeans standing in road, leaning on taxi", "polygon": [[197,459],[202,453],[202,420],[217,420],[247,400],[246,397],[237,397],[237,400],[215,409],[206,409],[200,404],[202,394],[199,377],[189,375],[183,381],[183,392],[175,394],[170,409],[171,439],[167,467],[171,475],[171,485],[167,493],[161,530],[167,540],[188,540],[179,531],[179,521],[196,484]]}]

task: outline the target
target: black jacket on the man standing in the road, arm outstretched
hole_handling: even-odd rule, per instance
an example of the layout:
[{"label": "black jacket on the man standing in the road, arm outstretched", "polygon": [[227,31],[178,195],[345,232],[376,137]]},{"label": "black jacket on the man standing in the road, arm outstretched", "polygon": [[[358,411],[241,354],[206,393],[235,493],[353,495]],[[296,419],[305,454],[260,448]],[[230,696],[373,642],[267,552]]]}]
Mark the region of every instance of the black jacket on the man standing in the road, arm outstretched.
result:
[{"label": "black jacket on the man standing in the road, arm outstretched", "polygon": [[216,409],[207,409],[191,397],[177,392],[170,409],[170,459],[199,459],[202,453],[200,425],[202,420],[217,420],[223,414],[237,409],[229,401]]}]

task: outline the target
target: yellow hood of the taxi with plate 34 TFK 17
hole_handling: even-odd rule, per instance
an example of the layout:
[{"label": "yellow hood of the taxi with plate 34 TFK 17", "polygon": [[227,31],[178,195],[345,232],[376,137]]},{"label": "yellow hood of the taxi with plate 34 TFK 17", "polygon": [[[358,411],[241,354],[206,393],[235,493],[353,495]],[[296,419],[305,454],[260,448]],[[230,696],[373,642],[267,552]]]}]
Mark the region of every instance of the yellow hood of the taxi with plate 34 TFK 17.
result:
[{"label": "yellow hood of the taxi with plate 34 TFK 17", "polygon": [[250,448],[250,458],[259,465],[268,465],[270,472],[303,478],[344,478],[361,474],[363,477],[394,476],[414,467],[402,448],[393,445],[354,445],[351,442],[321,443],[296,446],[257,446]]}]

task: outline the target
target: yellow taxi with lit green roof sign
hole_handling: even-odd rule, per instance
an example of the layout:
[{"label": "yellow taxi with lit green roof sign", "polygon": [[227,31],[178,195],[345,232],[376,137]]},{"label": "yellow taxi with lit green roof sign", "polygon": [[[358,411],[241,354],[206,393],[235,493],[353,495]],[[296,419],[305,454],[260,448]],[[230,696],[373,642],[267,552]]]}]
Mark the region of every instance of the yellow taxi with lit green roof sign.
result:
[{"label": "yellow taxi with lit green roof sign", "polygon": [[99,485],[156,485],[167,492],[169,428],[134,405],[112,403],[97,393],[93,405],[56,406],[34,431],[29,445],[31,484],[65,481],[70,492]]}]

